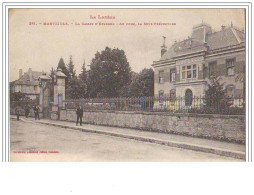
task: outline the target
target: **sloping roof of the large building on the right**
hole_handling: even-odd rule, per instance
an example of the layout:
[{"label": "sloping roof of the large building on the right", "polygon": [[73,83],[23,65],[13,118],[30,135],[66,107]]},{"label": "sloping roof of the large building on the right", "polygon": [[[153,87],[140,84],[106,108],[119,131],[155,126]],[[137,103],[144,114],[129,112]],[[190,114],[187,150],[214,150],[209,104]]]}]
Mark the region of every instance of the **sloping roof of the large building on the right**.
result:
[{"label": "sloping roof of the large building on the right", "polygon": [[[184,41],[176,42],[168,49],[167,52],[165,52],[160,60],[169,60],[193,52],[201,52],[206,50],[210,51],[213,49],[225,48],[245,42],[244,32],[233,27],[225,28],[214,33],[211,33],[211,31],[207,32],[208,33],[205,35],[205,37],[200,36],[199,38],[199,36],[192,36]],[[198,35],[199,34],[200,33],[198,32]]]}]

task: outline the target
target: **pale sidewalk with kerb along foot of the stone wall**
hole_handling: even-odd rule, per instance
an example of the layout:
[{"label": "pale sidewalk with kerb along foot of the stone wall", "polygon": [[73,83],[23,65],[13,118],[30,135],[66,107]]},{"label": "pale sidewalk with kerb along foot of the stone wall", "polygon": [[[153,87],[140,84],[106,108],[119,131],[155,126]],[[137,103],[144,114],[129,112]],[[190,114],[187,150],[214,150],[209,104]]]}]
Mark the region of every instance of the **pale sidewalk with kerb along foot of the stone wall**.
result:
[{"label": "pale sidewalk with kerb along foot of the stone wall", "polygon": [[[11,116],[11,118],[15,118]],[[109,136],[117,136],[127,139],[135,139],[138,141],[151,142],[161,145],[168,145],[171,147],[201,151],[206,153],[213,153],[217,155],[233,157],[245,160],[245,145],[228,143],[216,140],[208,140],[203,138],[156,133],[149,131],[140,131],[130,128],[107,127],[99,125],[83,124],[83,126],[76,126],[74,122],[55,121],[41,119],[35,121],[32,118],[21,117],[20,120],[24,122],[35,122],[45,125],[57,126],[73,130],[79,130],[90,133],[98,133]]]}]

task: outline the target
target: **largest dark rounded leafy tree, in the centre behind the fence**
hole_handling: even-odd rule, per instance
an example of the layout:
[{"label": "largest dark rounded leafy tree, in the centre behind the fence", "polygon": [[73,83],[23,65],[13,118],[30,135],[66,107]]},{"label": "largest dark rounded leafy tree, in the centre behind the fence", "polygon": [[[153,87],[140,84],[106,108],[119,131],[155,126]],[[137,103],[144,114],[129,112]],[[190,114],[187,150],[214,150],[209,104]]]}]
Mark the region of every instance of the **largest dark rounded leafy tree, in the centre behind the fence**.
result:
[{"label": "largest dark rounded leafy tree, in the centre behind the fence", "polygon": [[88,79],[90,97],[119,97],[130,81],[131,68],[123,50],[106,47],[95,54]]}]

